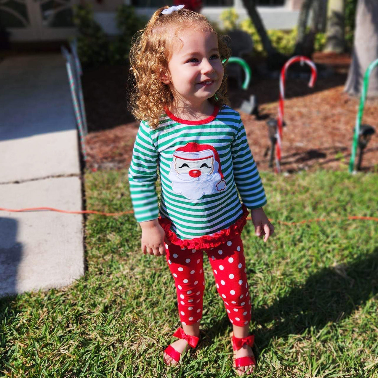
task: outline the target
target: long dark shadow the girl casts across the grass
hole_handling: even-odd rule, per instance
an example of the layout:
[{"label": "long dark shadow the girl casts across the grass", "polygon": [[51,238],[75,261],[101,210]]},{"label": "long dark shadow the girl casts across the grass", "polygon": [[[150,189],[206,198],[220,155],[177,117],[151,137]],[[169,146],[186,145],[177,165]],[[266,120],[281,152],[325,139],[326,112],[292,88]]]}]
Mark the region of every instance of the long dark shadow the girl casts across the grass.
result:
[{"label": "long dark shadow the girl casts across the grass", "polygon": [[[252,309],[252,319],[262,325],[254,331],[259,349],[266,347],[272,338],[301,335],[306,328],[320,330],[328,322],[337,323],[377,293],[378,248],[352,263],[323,268],[272,305]],[[228,326],[228,318],[224,316],[206,333],[214,338]]]}]

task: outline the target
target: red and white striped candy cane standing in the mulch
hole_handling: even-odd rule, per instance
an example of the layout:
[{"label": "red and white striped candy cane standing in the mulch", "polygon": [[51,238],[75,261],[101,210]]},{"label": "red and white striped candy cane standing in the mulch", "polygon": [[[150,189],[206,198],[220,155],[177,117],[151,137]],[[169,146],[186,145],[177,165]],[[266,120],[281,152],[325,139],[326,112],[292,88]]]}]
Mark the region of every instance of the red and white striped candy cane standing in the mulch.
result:
[{"label": "red and white striped candy cane standing in the mulch", "polygon": [[311,67],[311,78],[308,83],[309,87],[313,87],[316,80],[316,67],[312,60],[308,59],[305,56],[293,56],[290,58],[285,65],[282,67],[280,75],[280,101],[278,105],[278,132],[277,132],[277,143],[276,143],[276,170],[277,172],[281,171],[280,160],[281,160],[281,141],[282,141],[282,125],[283,125],[283,100],[285,99],[285,75],[288,67],[295,62],[307,63]]}]

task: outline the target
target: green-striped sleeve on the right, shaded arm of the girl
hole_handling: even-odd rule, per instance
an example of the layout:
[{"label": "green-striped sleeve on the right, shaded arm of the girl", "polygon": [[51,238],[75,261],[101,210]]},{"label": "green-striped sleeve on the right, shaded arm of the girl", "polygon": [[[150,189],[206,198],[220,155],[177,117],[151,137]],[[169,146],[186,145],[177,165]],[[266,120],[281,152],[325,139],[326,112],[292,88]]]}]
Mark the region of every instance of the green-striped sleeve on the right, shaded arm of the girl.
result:
[{"label": "green-striped sleeve on the right, shaded arm of the girl", "polygon": [[242,120],[231,144],[232,166],[236,187],[243,203],[249,209],[266,204],[264,187],[252,156]]}]

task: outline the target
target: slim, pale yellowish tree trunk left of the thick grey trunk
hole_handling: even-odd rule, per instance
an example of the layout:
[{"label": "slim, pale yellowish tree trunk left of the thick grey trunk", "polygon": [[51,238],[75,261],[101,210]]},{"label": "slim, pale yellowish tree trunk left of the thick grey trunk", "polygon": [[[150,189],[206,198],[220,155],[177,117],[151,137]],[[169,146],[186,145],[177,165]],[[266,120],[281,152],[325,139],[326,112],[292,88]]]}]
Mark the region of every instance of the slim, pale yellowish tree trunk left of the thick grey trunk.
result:
[{"label": "slim, pale yellowish tree trunk left of the thick grey trunk", "polygon": [[328,0],[325,52],[342,53],[345,50],[344,10],[345,0]]}]

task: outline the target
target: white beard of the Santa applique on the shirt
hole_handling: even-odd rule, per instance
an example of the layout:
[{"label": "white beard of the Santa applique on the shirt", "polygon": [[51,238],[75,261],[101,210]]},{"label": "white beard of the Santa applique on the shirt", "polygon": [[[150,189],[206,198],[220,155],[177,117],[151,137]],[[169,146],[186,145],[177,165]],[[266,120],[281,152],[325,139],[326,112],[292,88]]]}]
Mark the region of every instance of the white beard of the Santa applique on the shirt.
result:
[{"label": "white beard of the Santa applique on the shirt", "polygon": [[[177,194],[182,194],[189,200],[198,200],[205,194],[218,193],[225,189],[225,180],[218,172],[209,175],[201,174],[199,177],[191,177],[187,173],[177,174],[175,170],[169,172],[169,179],[172,181],[172,189]],[[217,184],[223,181],[224,184],[218,186]]]}]

